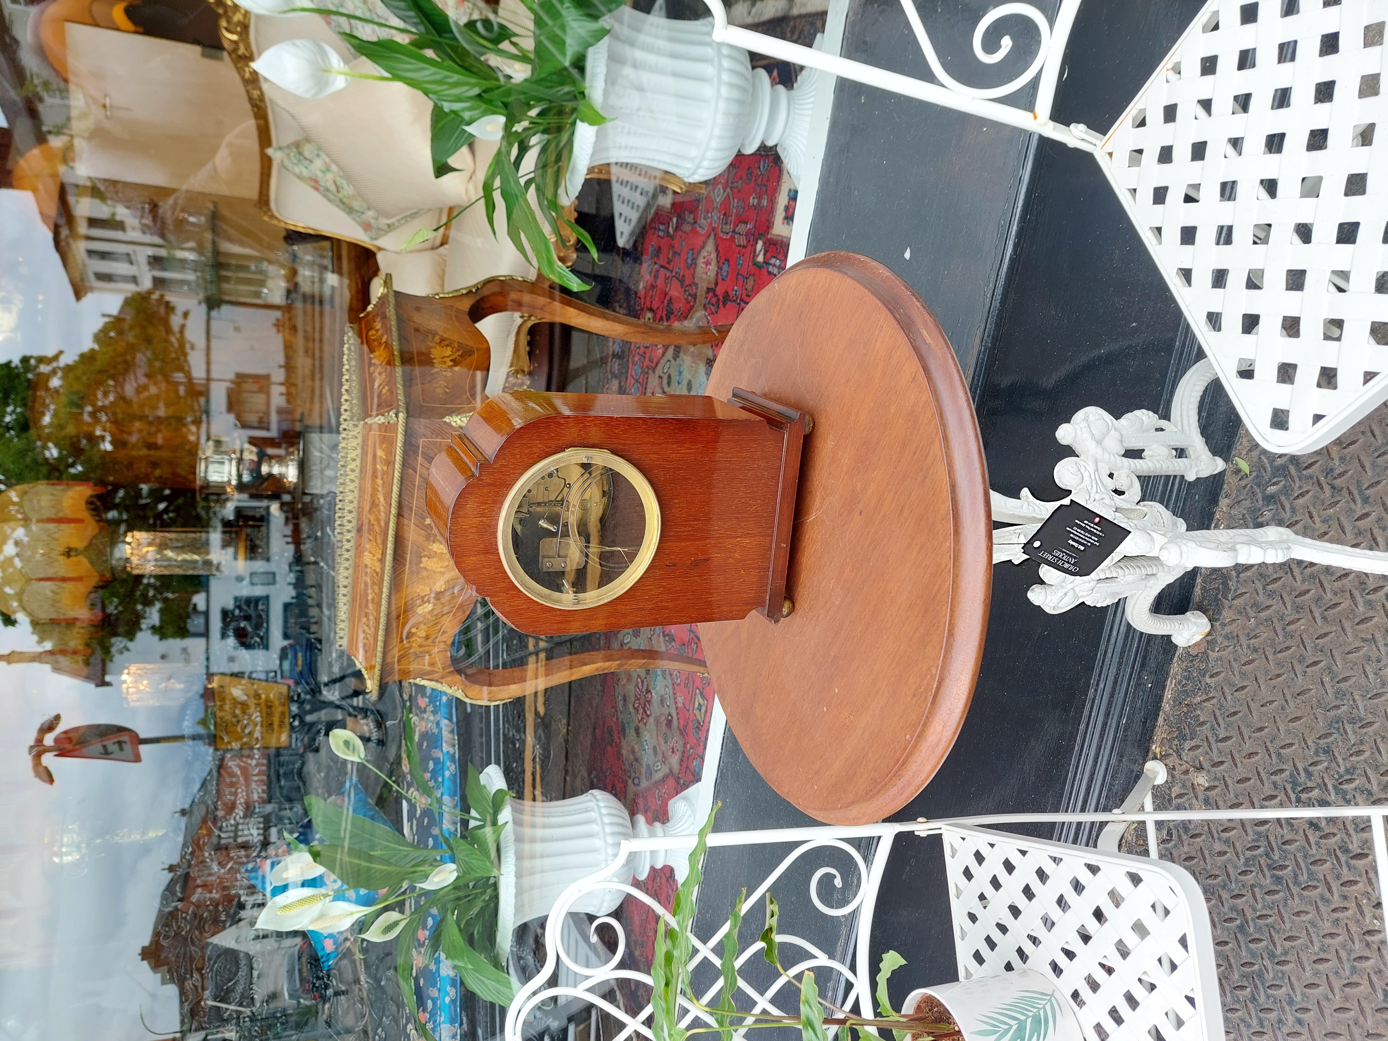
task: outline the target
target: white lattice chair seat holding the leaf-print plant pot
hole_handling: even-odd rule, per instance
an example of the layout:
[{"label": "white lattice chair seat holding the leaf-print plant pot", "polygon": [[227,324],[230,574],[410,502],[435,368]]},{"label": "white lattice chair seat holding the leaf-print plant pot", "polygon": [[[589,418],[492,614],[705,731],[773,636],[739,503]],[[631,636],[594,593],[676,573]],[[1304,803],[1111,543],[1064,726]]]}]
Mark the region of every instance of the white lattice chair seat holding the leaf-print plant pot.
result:
[{"label": "white lattice chair seat holding the leaf-print plant pot", "polygon": [[941,836],[960,980],[1045,973],[1098,1041],[1224,1035],[1209,915],[1183,869],[981,827]]}]

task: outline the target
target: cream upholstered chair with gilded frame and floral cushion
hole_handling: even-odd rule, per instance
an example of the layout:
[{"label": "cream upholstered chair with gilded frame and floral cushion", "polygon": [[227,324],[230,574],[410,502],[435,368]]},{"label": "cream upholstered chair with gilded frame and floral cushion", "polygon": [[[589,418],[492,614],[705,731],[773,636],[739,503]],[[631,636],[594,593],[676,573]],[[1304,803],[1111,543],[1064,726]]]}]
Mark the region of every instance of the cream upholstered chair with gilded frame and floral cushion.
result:
[{"label": "cream upholstered chair with gilded frame and floral cushion", "polygon": [[[415,133],[412,137],[408,132],[398,133],[397,140],[389,149],[382,150],[382,142],[375,137],[369,126],[362,128],[357,121],[333,118],[340,115],[335,112],[335,105],[315,108],[314,103],[293,99],[262,81],[250,67],[257,56],[276,43],[303,37],[322,40],[351,62],[355,54],[319,15],[301,14],[276,18],[253,15],[230,0],[214,0],[214,7],[221,18],[226,50],[240,72],[255,117],[261,151],[258,201],[269,219],[291,230],[326,235],[373,250],[382,275],[390,275],[397,290],[416,296],[466,289],[504,275],[534,278],[534,266],[520,255],[507,237],[504,214],[497,212],[497,233],[493,235],[480,204],[468,208],[444,230],[430,236],[423,243],[405,248],[405,243],[415,232],[436,228],[444,222],[452,207],[466,205],[480,196],[482,179],[497,147],[494,143],[477,140],[469,144],[452,160],[452,165],[461,172],[451,174],[434,183],[428,174],[430,164],[426,132],[428,108],[423,112],[421,133]],[[421,104],[428,105],[421,96],[396,83],[354,81],[351,87],[365,100],[365,105],[359,105],[357,111],[361,107],[379,105],[378,111],[408,114],[418,125],[421,114],[414,110]],[[333,96],[337,99],[337,108],[341,107],[341,99],[347,93],[343,90]],[[323,121],[322,125],[315,125],[315,119]],[[369,124],[369,121],[364,122]],[[390,129],[398,130],[396,126]],[[339,165],[344,168],[351,165],[351,179],[358,190],[364,185],[375,182],[398,196],[403,182],[414,183],[418,186],[421,198],[426,203],[422,205],[422,212],[375,242],[368,242],[355,221],[326,201],[311,186],[287,174],[265,154],[265,149],[272,146],[290,144],[303,137],[318,139],[329,133],[336,147],[325,149],[325,151],[329,151]],[[353,133],[361,133],[359,150],[351,142]],[[401,142],[412,142],[414,147],[403,154]],[[350,154],[344,157],[343,153]],[[414,175],[412,180],[401,174],[401,168]],[[423,176],[419,175],[421,171],[423,171]],[[362,178],[362,183],[358,183],[358,176]],[[371,196],[368,196],[368,201],[371,201]],[[501,390],[511,368],[516,335],[520,330],[520,316],[515,314],[493,315],[480,321],[477,328],[491,344],[491,368],[486,390],[489,394],[496,394]]]}]

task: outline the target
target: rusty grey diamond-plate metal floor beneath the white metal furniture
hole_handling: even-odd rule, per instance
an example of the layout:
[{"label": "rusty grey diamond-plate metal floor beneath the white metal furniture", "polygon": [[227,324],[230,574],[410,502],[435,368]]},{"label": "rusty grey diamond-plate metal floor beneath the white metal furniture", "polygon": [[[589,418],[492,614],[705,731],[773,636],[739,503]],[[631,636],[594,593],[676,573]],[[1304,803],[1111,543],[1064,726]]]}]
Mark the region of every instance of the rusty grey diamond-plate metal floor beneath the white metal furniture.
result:
[{"label": "rusty grey diamond-plate metal floor beneath the white metal furniture", "polygon": [[[1273,455],[1242,433],[1216,527],[1283,525],[1388,550],[1388,414]],[[1203,572],[1210,636],[1181,650],[1153,745],[1158,806],[1388,801],[1388,582],[1314,564]],[[1137,831],[1138,829],[1134,829]],[[1388,958],[1369,824],[1166,826],[1163,856],[1210,908],[1230,1038],[1388,1037]]]}]

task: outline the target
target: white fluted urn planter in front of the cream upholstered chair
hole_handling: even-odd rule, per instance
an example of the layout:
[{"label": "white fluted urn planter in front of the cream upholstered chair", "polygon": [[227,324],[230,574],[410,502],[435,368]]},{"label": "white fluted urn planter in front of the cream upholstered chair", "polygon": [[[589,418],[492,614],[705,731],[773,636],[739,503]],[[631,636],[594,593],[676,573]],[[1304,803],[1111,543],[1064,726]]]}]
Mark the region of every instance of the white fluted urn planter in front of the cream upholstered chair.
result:
[{"label": "white fluted urn planter in front of the cream upholstered chair", "polygon": [[775,144],[798,180],[819,75],[794,90],[754,69],[747,51],[713,42],[713,19],[676,21],[620,7],[612,31],[587,53],[589,100],[608,122],[579,124],[565,192],[572,201],[589,167],[650,167],[708,180],[738,151]]}]

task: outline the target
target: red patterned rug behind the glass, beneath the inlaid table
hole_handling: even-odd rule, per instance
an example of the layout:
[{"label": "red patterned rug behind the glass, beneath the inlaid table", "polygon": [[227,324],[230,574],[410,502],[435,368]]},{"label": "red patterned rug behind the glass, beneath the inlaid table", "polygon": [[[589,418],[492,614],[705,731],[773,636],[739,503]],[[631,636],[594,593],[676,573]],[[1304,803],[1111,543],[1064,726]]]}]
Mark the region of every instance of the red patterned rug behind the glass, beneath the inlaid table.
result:
[{"label": "red patterned rug behind the glass, beneath the inlaid table", "polygon": [[[702,193],[663,190],[640,243],[629,297],[633,314],[665,323],[731,322],[786,268],[795,189],[772,151],[738,155]],[[634,298],[633,298],[634,297]],[[701,394],[718,347],[618,344],[604,390],[613,394]],[[608,645],[658,647],[702,657],[697,626],[609,633]],[[706,676],[625,672],[604,677],[591,783],[634,813],[666,819],[673,795],[704,775],[713,687]],[[665,906],[669,869],[640,883]],[[655,916],[636,899],[622,906],[629,949],[650,965]]]}]

